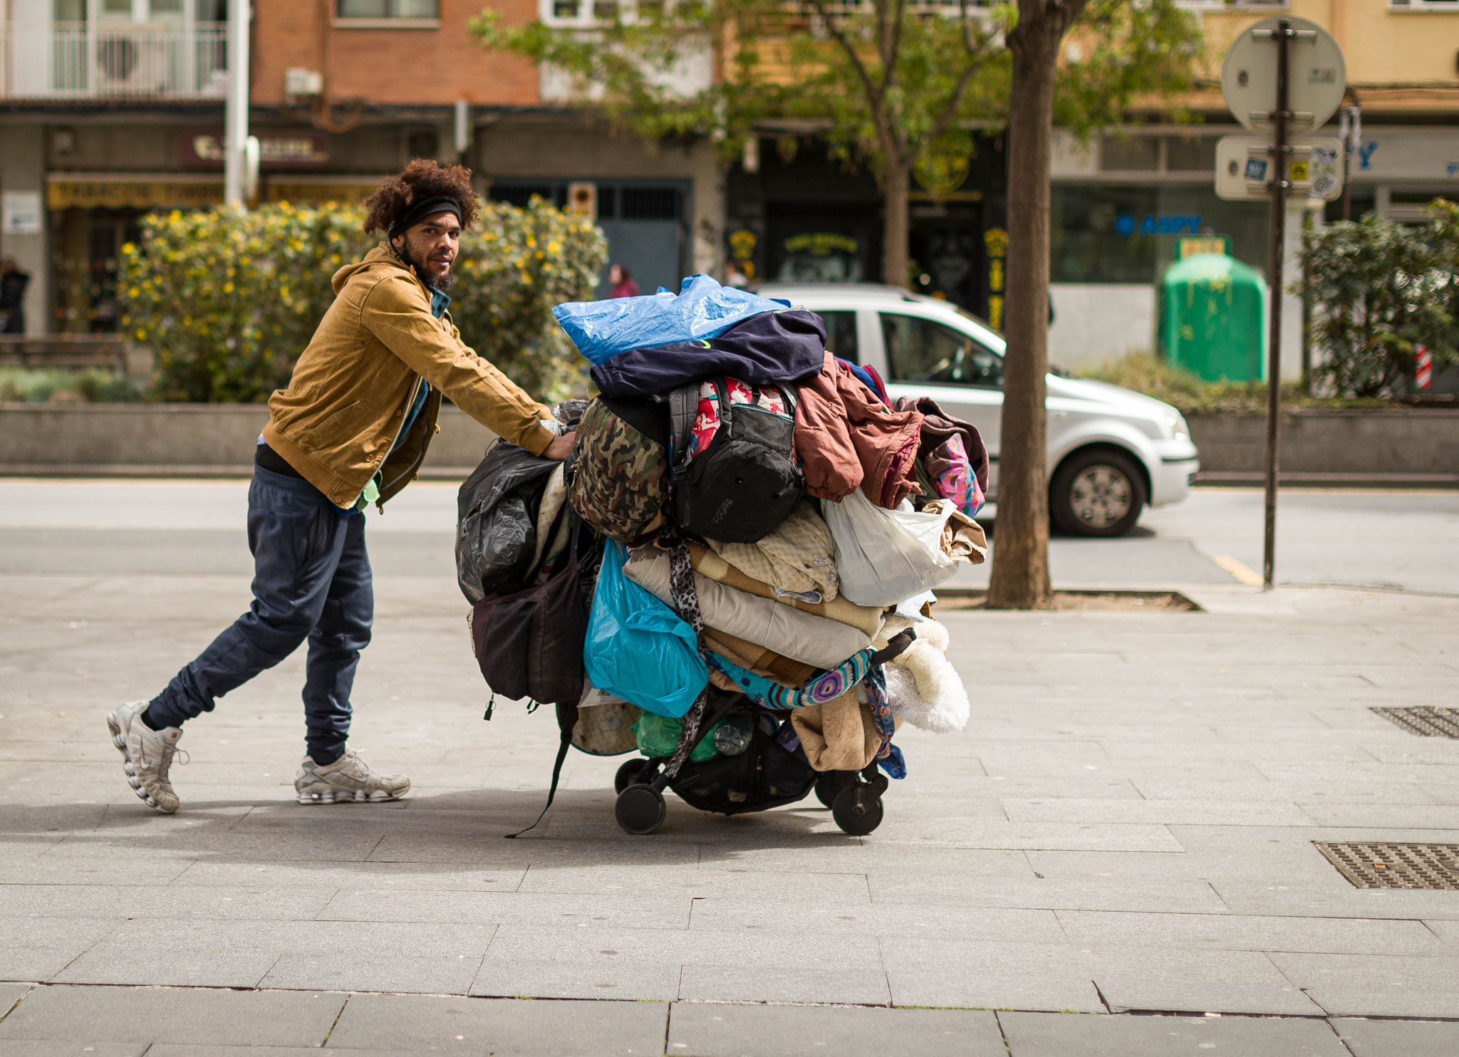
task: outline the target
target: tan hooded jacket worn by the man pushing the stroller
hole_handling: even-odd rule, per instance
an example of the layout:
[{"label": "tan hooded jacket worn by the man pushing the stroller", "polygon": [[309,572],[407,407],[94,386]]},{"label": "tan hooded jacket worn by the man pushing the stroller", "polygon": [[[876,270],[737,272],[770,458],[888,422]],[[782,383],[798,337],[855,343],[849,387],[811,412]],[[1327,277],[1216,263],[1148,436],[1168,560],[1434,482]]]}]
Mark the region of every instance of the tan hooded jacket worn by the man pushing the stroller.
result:
[{"label": "tan hooded jacket worn by the man pushing the stroller", "polygon": [[[268,446],[331,503],[353,506],[376,472],[381,506],[414,480],[442,394],[534,455],[552,443],[552,413],[467,348],[449,313],[430,315],[430,292],[384,242],[334,273],[334,293],[264,427]],[[430,395],[391,452],[422,379]]]}]

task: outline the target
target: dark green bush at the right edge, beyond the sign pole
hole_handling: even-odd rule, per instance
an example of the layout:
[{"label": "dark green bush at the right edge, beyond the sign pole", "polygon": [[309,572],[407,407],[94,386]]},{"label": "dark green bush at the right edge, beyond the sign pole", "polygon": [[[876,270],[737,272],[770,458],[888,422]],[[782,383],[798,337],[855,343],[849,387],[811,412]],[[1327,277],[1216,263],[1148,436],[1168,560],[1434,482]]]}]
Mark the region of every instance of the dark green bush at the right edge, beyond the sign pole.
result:
[{"label": "dark green bush at the right edge, beyond the sign pole", "polygon": [[1339,397],[1392,397],[1414,378],[1420,346],[1434,366],[1459,363],[1459,207],[1436,201],[1428,223],[1369,214],[1309,236],[1316,375]]}]

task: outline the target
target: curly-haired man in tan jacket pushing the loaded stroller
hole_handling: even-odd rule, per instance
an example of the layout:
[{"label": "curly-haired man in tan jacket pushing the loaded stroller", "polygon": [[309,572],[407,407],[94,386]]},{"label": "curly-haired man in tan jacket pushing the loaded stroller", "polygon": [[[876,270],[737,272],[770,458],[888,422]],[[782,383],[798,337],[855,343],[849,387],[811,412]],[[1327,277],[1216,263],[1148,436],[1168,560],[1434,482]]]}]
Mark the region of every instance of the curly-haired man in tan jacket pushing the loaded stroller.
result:
[{"label": "curly-haired man in tan jacket pushing the loaded stroller", "polygon": [[254,601],[150,701],[107,717],[127,781],[149,806],[178,809],[169,768],[182,723],[273,668],[306,640],[306,755],[301,803],[394,800],[410,780],[346,751],[350,690],[371,639],[374,589],[365,507],[416,477],[442,395],[534,455],[565,459],[552,413],[461,343],[451,322],[461,230],[477,216],[471,173],[416,160],[365,201],[385,239],[334,273],[334,303],[268,401],[248,490]]}]

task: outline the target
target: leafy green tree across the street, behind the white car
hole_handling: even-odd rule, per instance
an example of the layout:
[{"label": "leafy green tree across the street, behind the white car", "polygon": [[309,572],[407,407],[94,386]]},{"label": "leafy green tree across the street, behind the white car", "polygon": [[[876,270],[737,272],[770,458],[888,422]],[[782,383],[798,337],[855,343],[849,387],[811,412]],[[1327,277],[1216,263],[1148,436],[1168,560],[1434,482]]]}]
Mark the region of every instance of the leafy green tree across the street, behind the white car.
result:
[{"label": "leafy green tree across the street, behind the white car", "polygon": [[[1007,124],[1011,3],[951,0],[681,0],[622,3],[591,29],[473,29],[493,50],[566,74],[585,106],[651,139],[711,136],[727,156],[759,134],[824,140],[874,172],[886,195],[887,281],[906,281],[907,191],[919,172],[956,172],[975,130]],[[1055,120],[1087,133],[1139,96],[1189,87],[1199,31],[1176,0],[1093,0],[1059,69]],[[712,52],[718,76],[676,90],[668,71]]]}]

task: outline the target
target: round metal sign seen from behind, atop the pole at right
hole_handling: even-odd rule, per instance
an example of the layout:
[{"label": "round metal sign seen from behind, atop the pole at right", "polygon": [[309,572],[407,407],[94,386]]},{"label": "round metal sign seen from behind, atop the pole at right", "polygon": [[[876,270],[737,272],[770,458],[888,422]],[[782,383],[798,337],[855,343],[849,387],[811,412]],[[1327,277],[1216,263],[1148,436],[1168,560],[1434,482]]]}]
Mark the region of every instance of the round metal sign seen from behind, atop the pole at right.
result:
[{"label": "round metal sign seen from behind, atop the pole at right", "polygon": [[1253,133],[1271,131],[1277,108],[1275,31],[1282,22],[1299,32],[1287,44],[1287,106],[1294,114],[1287,127],[1300,136],[1326,124],[1348,87],[1342,50],[1316,22],[1277,17],[1250,26],[1226,52],[1221,93],[1237,121]]}]

